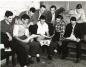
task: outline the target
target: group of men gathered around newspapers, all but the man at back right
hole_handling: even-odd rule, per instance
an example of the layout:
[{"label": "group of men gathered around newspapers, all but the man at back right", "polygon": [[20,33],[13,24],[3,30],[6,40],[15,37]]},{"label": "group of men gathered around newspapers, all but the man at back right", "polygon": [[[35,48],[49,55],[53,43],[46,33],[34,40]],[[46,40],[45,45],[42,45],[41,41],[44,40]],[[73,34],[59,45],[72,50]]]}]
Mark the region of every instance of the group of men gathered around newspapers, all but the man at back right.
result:
[{"label": "group of men gathered around newspapers, all but the man at back right", "polygon": [[21,67],[33,63],[32,57],[40,62],[40,52],[45,50],[44,46],[48,59],[51,60],[55,53],[61,54],[64,59],[68,55],[68,43],[74,42],[76,57],[80,57],[86,23],[77,23],[76,17],[71,17],[70,23],[66,24],[61,15],[63,8],[56,13],[56,6],[52,5],[50,10],[47,11],[45,5],[41,5],[40,10],[31,7],[14,18],[11,11],[6,11],[5,19],[1,21],[1,43],[5,51],[12,50],[13,54],[17,54]]}]

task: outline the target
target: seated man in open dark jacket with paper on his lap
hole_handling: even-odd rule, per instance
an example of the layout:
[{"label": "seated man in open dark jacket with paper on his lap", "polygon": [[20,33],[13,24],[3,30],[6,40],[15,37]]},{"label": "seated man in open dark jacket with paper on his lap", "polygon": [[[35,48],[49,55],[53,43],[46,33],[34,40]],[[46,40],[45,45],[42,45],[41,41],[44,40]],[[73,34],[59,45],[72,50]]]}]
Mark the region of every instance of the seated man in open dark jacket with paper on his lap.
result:
[{"label": "seated man in open dark jacket with paper on his lap", "polygon": [[77,60],[79,59],[80,56],[80,38],[79,38],[79,28],[78,28],[78,23],[76,23],[76,18],[71,17],[70,22],[65,29],[64,37],[65,39],[62,42],[61,50],[62,50],[62,59],[67,57],[68,55],[68,44],[70,42],[74,43],[76,46],[76,58]]}]

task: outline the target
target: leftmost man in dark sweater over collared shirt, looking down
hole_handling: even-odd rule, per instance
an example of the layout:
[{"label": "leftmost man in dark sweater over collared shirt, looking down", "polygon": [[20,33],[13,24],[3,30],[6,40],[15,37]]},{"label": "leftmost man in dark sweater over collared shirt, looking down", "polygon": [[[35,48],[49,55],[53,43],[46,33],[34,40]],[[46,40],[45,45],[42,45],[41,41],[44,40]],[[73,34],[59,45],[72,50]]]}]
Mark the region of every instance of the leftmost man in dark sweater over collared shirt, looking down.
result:
[{"label": "leftmost man in dark sweater over collared shirt, looking down", "polygon": [[[1,43],[4,44],[5,52],[6,52],[6,63],[9,64],[9,53],[12,51],[12,61],[14,59],[14,51],[13,51],[13,13],[11,11],[5,12],[5,18],[1,21]],[[14,65],[14,61],[12,62]]]}]

